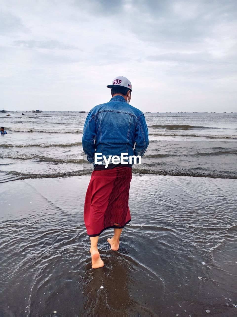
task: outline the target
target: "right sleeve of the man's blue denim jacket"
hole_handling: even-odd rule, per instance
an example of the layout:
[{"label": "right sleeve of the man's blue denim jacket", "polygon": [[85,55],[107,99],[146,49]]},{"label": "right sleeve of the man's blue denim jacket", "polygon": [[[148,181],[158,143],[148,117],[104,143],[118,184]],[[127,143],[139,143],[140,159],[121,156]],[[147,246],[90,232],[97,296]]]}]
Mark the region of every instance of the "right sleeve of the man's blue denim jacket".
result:
[{"label": "right sleeve of the man's blue denim jacket", "polygon": [[143,113],[140,114],[140,116],[137,119],[137,125],[135,130],[135,148],[134,148],[134,154],[140,155],[141,157],[144,155],[148,144],[148,128],[145,120],[145,116]]}]

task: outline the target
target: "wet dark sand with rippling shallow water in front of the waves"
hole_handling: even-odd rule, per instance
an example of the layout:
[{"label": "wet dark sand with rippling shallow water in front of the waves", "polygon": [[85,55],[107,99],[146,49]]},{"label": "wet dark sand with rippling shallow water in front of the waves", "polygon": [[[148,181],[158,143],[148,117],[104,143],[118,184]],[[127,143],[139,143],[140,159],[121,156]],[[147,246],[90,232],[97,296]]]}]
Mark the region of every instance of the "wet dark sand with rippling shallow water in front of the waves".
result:
[{"label": "wet dark sand with rippling shallow water in front of the waves", "polygon": [[89,177],[1,186],[1,317],[237,316],[236,180],[133,174],[132,221],[94,270]]}]

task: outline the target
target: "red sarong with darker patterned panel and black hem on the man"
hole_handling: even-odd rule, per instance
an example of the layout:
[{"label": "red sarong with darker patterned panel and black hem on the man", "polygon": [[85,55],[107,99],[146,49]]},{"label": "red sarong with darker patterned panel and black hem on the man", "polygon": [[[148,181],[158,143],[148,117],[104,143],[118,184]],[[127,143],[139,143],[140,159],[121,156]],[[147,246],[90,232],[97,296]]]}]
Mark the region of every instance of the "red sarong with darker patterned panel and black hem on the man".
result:
[{"label": "red sarong with darker patterned panel and black hem on the man", "polygon": [[131,221],[128,207],[131,167],[93,171],[86,192],[84,221],[89,237],[109,228],[123,228]]}]

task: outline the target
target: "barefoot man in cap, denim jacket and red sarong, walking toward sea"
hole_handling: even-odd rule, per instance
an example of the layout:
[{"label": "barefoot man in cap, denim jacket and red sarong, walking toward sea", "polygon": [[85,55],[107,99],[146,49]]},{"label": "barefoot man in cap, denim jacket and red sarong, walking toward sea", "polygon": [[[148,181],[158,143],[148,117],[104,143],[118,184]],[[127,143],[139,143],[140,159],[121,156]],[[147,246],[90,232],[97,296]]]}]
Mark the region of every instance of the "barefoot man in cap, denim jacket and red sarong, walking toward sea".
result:
[{"label": "barefoot man in cap, denim jacket and red sarong, walking toward sea", "polygon": [[[142,157],[149,143],[144,114],[129,105],[131,82],[120,76],[107,87],[111,88],[112,99],[95,106],[88,113],[82,136],[87,160],[94,165],[84,206],[84,220],[91,242],[92,268],[104,266],[97,249],[100,233],[114,228],[114,236],[107,241],[111,249],[117,251],[120,234],[131,221],[128,195],[134,160],[130,164],[110,163],[107,168],[105,161],[115,155],[121,159],[121,153]],[[100,164],[94,163],[97,153],[104,156]]]}]

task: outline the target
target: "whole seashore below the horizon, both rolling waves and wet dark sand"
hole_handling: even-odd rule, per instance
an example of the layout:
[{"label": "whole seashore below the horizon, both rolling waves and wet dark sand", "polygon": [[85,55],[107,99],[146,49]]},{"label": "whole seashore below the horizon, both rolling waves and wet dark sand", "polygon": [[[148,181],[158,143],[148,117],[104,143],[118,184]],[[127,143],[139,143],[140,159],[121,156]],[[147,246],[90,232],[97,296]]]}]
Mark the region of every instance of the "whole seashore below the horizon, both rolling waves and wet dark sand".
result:
[{"label": "whole seashore below the horizon, both rolling waves and wet dark sand", "polygon": [[85,115],[1,116],[0,316],[237,316],[236,113],[145,114],[132,220],[96,270]]}]

